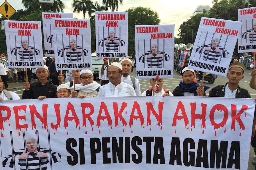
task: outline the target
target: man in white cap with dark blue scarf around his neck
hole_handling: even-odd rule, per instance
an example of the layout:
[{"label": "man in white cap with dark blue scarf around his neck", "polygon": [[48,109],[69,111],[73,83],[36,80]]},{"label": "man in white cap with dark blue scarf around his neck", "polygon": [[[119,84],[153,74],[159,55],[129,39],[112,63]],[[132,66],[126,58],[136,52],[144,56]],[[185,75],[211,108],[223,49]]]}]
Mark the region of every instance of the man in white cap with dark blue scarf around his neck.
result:
[{"label": "man in white cap with dark blue scarf around his neck", "polygon": [[206,96],[205,90],[210,88],[209,86],[197,84],[194,82],[195,70],[185,67],[182,70],[183,82],[173,90],[174,96]]}]

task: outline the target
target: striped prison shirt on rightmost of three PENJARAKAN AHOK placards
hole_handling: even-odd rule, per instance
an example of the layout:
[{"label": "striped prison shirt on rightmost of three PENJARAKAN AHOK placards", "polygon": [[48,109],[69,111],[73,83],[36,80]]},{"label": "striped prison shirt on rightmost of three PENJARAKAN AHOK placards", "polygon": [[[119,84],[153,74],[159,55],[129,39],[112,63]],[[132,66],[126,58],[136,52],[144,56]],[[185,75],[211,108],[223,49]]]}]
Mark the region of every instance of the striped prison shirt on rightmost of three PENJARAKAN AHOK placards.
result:
[{"label": "striped prison shirt on rightmost of three PENJARAKAN AHOK placards", "polygon": [[[113,39],[113,40],[110,39],[109,37],[105,37],[104,41],[106,41],[108,39],[110,40],[110,43],[105,43],[106,51],[107,52],[109,52],[109,51],[111,51],[111,52],[118,52],[119,43],[114,43],[115,39],[120,41],[121,46],[124,46],[124,41],[122,39],[118,38],[118,37],[115,37],[115,39]],[[100,40],[99,41],[99,46],[103,47],[104,41]]]}]

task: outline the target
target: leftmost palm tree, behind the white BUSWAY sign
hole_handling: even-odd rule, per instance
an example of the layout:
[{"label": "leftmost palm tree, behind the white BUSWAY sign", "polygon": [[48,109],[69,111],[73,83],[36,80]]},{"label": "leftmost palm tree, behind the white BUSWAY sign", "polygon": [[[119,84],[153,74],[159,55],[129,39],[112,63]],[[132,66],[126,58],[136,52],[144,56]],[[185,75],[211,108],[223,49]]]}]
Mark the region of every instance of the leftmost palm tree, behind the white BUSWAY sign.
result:
[{"label": "leftmost palm tree, behind the white BUSWAY sign", "polygon": [[39,3],[38,0],[22,0],[21,3],[28,10],[42,10],[51,12],[63,12],[65,5],[61,0],[55,0],[53,3]]}]

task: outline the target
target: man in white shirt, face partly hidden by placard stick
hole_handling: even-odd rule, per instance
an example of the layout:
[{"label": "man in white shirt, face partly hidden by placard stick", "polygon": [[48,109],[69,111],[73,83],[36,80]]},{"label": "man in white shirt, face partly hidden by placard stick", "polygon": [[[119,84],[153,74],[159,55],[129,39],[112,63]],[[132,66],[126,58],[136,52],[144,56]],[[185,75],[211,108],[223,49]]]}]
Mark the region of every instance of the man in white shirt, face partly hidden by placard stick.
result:
[{"label": "man in white shirt, face partly hidden by placard stick", "polygon": [[141,96],[173,96],[172,92],[162,88],[164,84],[163,78],[159,78],[159,76],[157,76],[156,78],[150,79],[149,83],[152,88],[145,90]]}]

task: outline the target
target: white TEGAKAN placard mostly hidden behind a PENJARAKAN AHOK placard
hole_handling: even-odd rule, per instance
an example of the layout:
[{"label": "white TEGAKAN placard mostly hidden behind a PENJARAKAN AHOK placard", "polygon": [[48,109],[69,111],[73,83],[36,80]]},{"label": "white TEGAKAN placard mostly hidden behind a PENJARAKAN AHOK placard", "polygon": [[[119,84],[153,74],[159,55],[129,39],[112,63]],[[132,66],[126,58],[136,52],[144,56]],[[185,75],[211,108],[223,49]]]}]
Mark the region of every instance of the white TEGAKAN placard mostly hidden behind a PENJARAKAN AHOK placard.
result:
[{"label": "white TEGAKAN placard mostly hidden behind a PENJARAKAN AHOK placard", "polygon": [[42,12],[46,57],[54,57],[52,18],[73,18],[73,14]]}]

